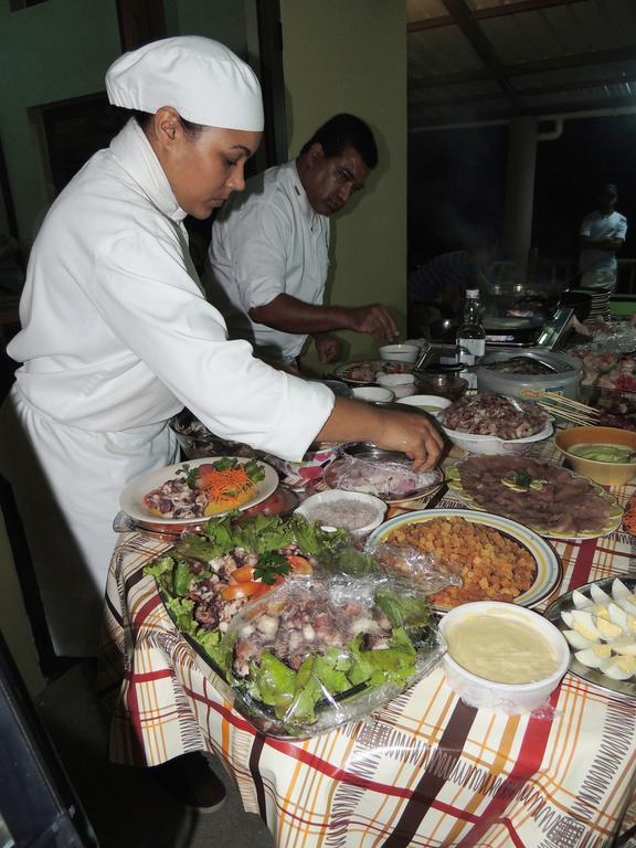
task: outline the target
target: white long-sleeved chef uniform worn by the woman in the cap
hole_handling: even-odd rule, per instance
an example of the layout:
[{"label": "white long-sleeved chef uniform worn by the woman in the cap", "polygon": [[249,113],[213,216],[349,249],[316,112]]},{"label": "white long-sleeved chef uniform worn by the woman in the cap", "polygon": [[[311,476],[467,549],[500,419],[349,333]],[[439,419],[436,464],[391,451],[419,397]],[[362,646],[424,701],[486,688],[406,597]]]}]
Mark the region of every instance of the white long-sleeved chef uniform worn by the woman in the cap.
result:
[{"label": "white long-sleeved chef uniform worn by the woman in the cap", "polygon": [[2,410],[0,471],[59,654],[94,653],[75,604],[98,622],[118,496],[173,462],[170,416],[187,405],[220,436],[296,460],[333,405],[326,386],[227,341],[189,258],[184,216],[129,121],[60,194],[33,246],[22,330],[8,347],[24,364]]}]

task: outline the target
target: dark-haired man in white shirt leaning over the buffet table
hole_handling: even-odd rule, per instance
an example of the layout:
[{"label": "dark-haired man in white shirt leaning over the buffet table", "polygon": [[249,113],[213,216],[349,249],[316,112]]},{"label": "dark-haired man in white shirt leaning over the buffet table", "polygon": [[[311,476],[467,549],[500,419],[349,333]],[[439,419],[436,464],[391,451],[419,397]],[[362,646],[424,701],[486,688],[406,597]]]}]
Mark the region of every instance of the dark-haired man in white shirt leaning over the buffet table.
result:
[{"label": "dark-haired man in white shirt leaning over the buffet table", "polygon": [[203,275],[208,298],[224,315],[230,338],[294,364],[308,336],[320,362],[340,357],[331,330],[369,333],[378,342],[399,330],[379,304],[324,305],[329,269],[331,215],[364,188],[378,162],[364,121],[336,115],[318,129],[296,159],[247,181],[212,226]]}]

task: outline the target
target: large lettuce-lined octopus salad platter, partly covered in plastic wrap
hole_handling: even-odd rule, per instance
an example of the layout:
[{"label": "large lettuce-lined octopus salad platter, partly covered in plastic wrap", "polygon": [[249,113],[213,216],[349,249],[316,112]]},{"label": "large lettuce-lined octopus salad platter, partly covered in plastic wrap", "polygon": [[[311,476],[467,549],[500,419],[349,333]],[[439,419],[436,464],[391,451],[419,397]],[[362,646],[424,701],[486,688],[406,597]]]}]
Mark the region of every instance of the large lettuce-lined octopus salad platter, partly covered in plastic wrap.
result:
[{"label": "large lettuce-lined octopus salad platter, partly covered in plastic wrap", "polygon": [[346,531],[234,513],[144,573],[239,712],[298,739],[372,712],[444,653],[426,597],[375,569]]}]

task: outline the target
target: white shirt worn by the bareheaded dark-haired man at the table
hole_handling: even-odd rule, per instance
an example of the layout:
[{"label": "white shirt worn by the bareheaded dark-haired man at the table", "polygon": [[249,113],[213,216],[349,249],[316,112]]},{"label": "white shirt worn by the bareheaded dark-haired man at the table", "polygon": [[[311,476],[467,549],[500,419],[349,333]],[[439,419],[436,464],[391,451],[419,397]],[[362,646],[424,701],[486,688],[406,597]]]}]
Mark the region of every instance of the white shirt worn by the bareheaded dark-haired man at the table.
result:
[{"label": "white shirt worn by the bareheaded dark-haired man at the table", "polygon": [[203,283],[232,339],[283,361],[301,351],[305,333],[282,332],[250,318],[250,309],[282,294],[322,304],[329,268],[329,219],[314,211],[296,160],[247,181],[212,226]]}]

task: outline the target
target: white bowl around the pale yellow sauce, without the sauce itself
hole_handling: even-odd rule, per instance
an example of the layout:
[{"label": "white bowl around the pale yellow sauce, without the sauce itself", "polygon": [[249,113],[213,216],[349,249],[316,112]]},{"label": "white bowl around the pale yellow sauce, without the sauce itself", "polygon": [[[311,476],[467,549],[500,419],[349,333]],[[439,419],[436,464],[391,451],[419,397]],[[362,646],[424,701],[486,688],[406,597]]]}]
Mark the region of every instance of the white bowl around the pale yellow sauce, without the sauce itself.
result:
[{"label": "white bowl around the pale yellow sauce, without the sauce itself", "polygon": [[542,615],[501,601],[476,601],[456,606],[439,622],[439,632],[447,638],[459,622],[479,615],[501,615],[533,628],[554,650],[556,668],[547,677],[529,683],[501,683],[468,671],[446,653],[443,667],[451,688],[471,707],[498,710],[510,716],[531,712],[545,704],[570,664],[570,648],[563,634]]}]

